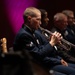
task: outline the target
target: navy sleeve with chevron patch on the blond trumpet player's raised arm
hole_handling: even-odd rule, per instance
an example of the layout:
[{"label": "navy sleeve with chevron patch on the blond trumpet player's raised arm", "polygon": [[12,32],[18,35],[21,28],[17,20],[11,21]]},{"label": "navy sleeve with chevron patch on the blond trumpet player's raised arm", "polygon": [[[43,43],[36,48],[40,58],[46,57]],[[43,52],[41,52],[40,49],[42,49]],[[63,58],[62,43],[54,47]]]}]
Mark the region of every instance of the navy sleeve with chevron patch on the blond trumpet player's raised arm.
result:
[{"label": "navy sleeve with chevron patch on the blond trumpet player's raised arm", "polygon": [[23,48],[29,50],[29,52],[36,56],[48,56],[54,50],[49,43],[38,46],[34,39],[31,39],[27,35],[22,35],[20,41],[22,42]]}]

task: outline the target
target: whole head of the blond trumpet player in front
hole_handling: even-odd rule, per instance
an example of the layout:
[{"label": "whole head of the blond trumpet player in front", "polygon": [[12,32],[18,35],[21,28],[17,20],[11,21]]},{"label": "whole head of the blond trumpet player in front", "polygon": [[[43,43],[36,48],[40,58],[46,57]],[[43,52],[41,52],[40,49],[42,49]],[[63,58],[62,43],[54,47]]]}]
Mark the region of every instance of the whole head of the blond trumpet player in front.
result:
[{"label": "whole head of the blond trumpet player in front", "polygon": [[41,12],[35,7],[28,7],[23,14],[24,23],[32,29],[38,29],[41,24]]}]

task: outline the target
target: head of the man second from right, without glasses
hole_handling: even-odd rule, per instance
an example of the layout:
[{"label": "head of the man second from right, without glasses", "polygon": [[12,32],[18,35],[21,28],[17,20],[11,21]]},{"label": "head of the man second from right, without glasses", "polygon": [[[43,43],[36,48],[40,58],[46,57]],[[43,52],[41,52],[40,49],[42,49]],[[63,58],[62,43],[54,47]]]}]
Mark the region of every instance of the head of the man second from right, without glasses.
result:
[{"label": "head of the man second from right, without glasses", "polygon": [[54,15],[54,25],[60,30],[64,30],[68,23],[67,23],[67,16],[63,13],[56,13]]}]

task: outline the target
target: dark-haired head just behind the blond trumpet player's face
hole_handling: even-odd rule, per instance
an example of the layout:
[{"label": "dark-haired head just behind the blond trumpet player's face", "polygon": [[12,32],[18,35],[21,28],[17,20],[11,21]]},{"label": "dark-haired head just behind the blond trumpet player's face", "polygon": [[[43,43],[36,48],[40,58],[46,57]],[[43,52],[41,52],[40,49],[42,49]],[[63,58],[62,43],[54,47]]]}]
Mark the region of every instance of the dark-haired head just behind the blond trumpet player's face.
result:
[{"label": "dark-haired head just behind the blond trumpet player's face", "polygon": [[48,13],[46,10],[44,9],[39,9],[41,11],[41,26],[42,27],[45,27],[48,25],[48,21],[49,21],[49,18],[48,18]]}]

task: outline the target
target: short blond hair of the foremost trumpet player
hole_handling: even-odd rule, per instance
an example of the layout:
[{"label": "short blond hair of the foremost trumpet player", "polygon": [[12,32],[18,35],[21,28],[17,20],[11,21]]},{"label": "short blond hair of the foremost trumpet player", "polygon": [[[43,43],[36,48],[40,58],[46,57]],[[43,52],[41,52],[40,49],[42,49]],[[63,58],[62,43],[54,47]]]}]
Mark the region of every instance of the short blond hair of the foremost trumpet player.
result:
[{"label": "short blond hair of the foremost trumpet player", "polygon": [[28,7],[28,8],[26,8],[26,10],[23,13],[23,18],[25,20],[28,16],[35,17],[36,13],[41,13],[41,12],[39,9],[37,9],[35,7]]}]

